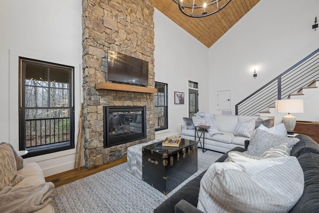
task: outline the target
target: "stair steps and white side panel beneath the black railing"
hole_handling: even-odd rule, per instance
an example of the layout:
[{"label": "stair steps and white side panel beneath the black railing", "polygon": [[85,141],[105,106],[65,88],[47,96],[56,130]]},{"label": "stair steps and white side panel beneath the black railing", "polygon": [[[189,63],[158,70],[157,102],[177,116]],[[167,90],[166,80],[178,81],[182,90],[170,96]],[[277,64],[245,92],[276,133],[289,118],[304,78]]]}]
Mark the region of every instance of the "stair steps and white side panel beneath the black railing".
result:
[{"label": "stair steps and white side panel beneath the black railing", "polygon": [[[304,113],[295,113],[298,121],[319,121],[319,80],[314,80],[307,87],[300,88],[296,93],[288,95],[288,99],[303,99]],[[277,113],[275,103],[259,112],[260,116],[275,117],[275,124],[281,123],[281,119],[287,113]]]}]

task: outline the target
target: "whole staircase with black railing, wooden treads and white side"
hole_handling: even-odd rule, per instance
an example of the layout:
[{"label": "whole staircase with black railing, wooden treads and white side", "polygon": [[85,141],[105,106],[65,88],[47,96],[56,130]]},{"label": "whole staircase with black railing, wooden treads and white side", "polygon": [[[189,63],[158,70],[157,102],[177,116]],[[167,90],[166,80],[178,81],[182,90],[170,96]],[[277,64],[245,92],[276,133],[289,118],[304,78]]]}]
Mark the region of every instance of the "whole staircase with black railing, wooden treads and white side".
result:
[{"label": "whole staircase with black railing, wooden treads and white side", "polygon": [[235,105],[236,115],[274,116],[281,122],[283,113],[275,112],[275,101],[304,99],[305,113],[297,120],[319,121],[319,49],[296,63],[272,81]]}]

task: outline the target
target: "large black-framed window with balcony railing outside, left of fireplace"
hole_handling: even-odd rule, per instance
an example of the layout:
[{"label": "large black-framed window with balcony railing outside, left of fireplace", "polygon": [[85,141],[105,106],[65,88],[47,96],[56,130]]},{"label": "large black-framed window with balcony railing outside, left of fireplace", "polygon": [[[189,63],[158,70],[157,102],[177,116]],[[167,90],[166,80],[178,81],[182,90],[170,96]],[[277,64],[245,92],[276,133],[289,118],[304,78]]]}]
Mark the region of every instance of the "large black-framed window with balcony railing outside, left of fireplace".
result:
[{"label": "large black-framed window with balcony railing outside, left of fireplace", "polygon": [[33,157],[74,148],[74,67],[19,58],[19,149]]}]

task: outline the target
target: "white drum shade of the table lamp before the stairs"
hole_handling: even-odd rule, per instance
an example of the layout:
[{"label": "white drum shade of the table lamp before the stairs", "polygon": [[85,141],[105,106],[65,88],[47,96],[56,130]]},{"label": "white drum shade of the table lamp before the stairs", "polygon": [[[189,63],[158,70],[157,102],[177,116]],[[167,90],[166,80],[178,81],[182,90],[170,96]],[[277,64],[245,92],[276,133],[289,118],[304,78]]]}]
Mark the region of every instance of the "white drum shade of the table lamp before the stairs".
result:
[{"label": "white drum shade of the table lamp before the stairs", "polygon": [[302,113],[304,112],[303,99],[285,99],[275,101],[276,112]]}]

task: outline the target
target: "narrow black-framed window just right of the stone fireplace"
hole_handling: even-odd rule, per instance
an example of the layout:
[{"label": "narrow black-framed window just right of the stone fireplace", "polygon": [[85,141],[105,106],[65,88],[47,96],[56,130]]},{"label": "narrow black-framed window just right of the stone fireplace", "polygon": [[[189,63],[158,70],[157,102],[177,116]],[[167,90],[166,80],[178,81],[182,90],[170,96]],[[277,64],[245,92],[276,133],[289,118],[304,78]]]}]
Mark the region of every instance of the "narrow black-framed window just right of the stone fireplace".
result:
[{"label": "narrow black-framed window just right of the stone fireplace", "polygon": [[155,131],[164,130],[168,128],[167,115],[167,84],[155,82],[155,88],[158,92],[155,93]]}]

